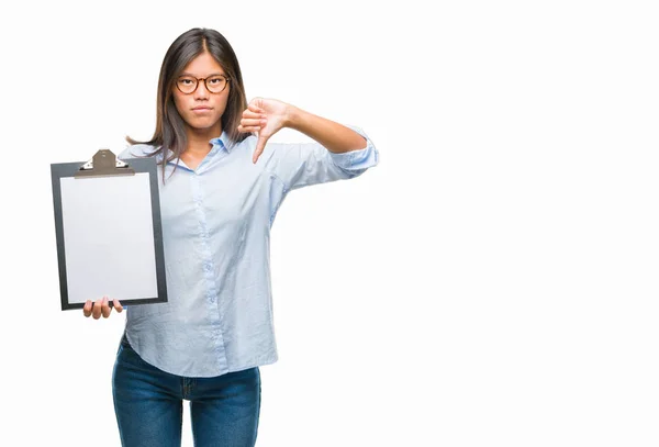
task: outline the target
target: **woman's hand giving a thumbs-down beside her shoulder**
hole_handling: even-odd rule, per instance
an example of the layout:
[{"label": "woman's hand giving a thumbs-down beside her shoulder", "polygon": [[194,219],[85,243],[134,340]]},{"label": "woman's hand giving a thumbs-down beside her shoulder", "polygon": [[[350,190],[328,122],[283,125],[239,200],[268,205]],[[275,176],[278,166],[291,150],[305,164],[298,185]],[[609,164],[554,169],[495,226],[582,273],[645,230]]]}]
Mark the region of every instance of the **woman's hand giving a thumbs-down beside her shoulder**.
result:
[{"label": "woman's hand giving a thumbs-down beside her shoulder", "polygon": [[256,132],[258,139],[252,161],[256,163],[266,143],[279,130],[287,126],[290,105],[276,99],[255,98],[243,112],[238,132]]}]

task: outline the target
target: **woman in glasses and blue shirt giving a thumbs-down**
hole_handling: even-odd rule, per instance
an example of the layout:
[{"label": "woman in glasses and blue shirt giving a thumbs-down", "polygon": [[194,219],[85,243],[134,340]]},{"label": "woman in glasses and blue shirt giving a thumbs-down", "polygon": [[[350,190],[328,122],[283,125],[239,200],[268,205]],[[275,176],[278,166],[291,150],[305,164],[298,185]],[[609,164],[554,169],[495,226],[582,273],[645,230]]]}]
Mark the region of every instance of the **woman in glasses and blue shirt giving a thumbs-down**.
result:
[{"label": "woman in glasses and blue shirt giving a thumbs-down", "polygon": [[[267,144],[290,127],[316,143]],[[255,135],[256,134],[256,135]],[[259,366],[277,361],[269,235],[290,190],[349,179],[377,165],[357,128],[291,104],[247,103],[238,60],[216,31],[169,47],[148,142],[120,158],[161,165],[168,302],[131,306],[113,371],[123,446],[180,446],[182,400],[196,446],[254,446]],[[118,312],[122,305],[113,300]],[[85,316],[108,317],[108,298]]]}]

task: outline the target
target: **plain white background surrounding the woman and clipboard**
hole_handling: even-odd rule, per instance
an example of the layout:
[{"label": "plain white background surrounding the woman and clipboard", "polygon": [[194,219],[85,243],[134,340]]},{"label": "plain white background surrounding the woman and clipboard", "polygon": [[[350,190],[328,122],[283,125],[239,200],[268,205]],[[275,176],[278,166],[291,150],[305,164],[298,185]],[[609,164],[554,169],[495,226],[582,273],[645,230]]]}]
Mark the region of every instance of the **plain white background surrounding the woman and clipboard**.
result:
[{"label": "plain white background surrounding the woman and clipboard", "polygon": [[659,445],[654,2],[434,8],[2,7],[0,444],[119,445],[125,314],[60,311],[49,164],[150,137],[167,47],[208,26],[248,99],[381,156],[278,213],[258,446]]}]

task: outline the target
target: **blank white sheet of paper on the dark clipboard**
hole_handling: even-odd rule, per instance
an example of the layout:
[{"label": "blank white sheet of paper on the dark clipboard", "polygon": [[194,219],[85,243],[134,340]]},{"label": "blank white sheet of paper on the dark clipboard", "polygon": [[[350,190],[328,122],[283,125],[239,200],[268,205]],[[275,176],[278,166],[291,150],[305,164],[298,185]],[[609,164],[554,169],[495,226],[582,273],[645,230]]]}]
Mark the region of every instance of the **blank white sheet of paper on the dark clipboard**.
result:
[{"label": "blank white sheet of paper on the dark clipboard", "polygon": [[157,297],[148,174],[60,185],[68,302]]}]

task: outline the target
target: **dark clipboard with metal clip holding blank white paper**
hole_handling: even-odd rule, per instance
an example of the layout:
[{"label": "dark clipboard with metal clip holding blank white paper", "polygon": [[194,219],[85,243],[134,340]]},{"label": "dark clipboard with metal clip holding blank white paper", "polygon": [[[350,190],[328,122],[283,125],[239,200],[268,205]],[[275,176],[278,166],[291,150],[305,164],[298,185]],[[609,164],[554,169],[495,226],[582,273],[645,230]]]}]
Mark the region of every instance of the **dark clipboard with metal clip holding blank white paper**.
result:
[{"label": "dark clipboard with metal clip holding blank white paper", "polygon": [[154,157],[122,161],[110,149],[51,164],[63,311],[104,295],[167,302],[156,167]]}]

